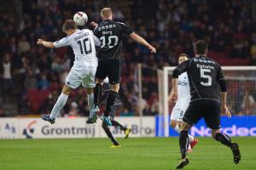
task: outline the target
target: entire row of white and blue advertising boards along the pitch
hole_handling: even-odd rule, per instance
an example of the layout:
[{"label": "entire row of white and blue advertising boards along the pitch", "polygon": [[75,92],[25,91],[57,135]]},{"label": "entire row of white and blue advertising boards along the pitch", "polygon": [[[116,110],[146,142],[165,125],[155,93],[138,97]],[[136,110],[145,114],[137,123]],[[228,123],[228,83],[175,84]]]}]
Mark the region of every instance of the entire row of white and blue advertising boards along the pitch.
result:
[{"label": "entire row of white and blue advertising boards along the pitch", "polygon": [[[116,117],[131,127],[131,137],[163,137],[163,116]],[[0,118],[0,139],[55,139],[55,138],[104,138],[102,121],[94,125],[85,123],[85,117],[58,118],[55,124],[40,118]],[[256,116],[221,117],[221,130],[230,136],[256,136]],[[120,129],[111,127],[115,137],[124,137]],[[211,136],[211,130],[201,120],[190,133],[194,136]],[[170,127],[169,136],[178,134]]]}]

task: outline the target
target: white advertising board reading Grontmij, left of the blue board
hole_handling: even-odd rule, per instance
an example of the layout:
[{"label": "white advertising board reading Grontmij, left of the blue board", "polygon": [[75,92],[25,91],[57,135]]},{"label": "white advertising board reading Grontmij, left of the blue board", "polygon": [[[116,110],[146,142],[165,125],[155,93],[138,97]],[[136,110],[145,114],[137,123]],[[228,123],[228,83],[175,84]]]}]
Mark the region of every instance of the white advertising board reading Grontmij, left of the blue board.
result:
[{"label": "white advertising board reading Grontmij, left of the blue board", "polygon": [[[154,137],[154,116],[116,117],[116,121],[131,127],[131,137]],[[85,117],[57,118],[55,124],[40,118],[0,118],[0,139],[55,139],[55,138],[102,138],[102,121],[88,125]],[[142,126],[140,126],[142,125]],[[124,137],[120,129],[111,127],[115,137]]]}]

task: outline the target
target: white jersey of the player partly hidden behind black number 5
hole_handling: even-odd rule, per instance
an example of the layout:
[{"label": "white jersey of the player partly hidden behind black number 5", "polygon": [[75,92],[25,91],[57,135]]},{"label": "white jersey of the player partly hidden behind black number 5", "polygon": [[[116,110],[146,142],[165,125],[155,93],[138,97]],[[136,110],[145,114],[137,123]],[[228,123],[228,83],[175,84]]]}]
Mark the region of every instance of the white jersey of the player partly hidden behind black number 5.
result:
[{"label": "white jersey of the player partly hidden behind black number 5", "polygon": [[183,72],[177,79],[177,102],[190,101],[189,77]]}]

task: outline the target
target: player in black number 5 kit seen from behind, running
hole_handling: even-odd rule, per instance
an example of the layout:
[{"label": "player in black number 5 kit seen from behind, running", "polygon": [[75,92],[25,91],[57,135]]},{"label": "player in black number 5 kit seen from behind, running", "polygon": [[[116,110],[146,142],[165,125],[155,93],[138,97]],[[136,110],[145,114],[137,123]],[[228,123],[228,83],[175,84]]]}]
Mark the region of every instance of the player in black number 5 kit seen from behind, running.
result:
[{"label": "player in black number 5 kit seen from behind, running", "polygon": [[[231,116],[226,105],[227,88],[224,81],[223,71],[217,62],[207,57],[207,42],[200,40],[195,42],[195,57],[178,65],[172,73],[171,100],[177,100],[177,77],[187,71],[189,77],[191,100],[189,108],[183,116],[179,145],[182,159],[177,169],[182,169],[189,164],[187,157],[187,145],[189,144],[189,129],[201,118],[204,118],[207,127],[212,129],[212,138],[224,144],[233,152],[234,162],[239,163],[241,159],[238,144],[232,143],[230,137],[220,132],[221,109],[226,116]],[[220,95],[219,90],[220,87]],[[169,100],[170,100],[169,99]]]}]

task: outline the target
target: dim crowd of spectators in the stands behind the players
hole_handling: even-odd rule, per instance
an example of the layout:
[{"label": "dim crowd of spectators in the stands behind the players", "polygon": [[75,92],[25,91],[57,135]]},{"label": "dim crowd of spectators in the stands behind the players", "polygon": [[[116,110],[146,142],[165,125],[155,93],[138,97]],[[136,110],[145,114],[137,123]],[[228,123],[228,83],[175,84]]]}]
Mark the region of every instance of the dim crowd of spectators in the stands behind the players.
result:
[{"label": "dim crowd of spectators in the stands behind the players", "polygon": [[[73,64],[70,48],[47,49],[36,45],[39,37],[55,41],[64,37],[63,20],[84,11],[91,20],[100,21],[99,11],[108,1],[23,0],[22,16],[17,20],[0,15],[0,78],[3,99],[19,96],[20,114],[44,113],[55,104],[67,73]],[[157,48],[149,54],[147,48],[125,38],[123,77],[120,96],[120,116],[138,115],[139,105],[144,115],[158,113],[158,82],[156,69],[177,65],[180,53],[193,55],[192,42],[203,38],[210,42],[209,55],[221,65],[256,64],[256,26],[250,0],[245,1],[131,1],[132,18],[125,20],[115,8],[115,20],[124,21]],[[110,5],[111,6],[111,5]],[[89,26],[89,24],[88,24]],[[90,26],[89,26],[90,27]],[[137,63],[143,63],[143,100],[138,99]],[[237,114],[255,113],[253,87],[240,89],[234,96],[239,103],[230,107]],[[4,111],[0,107],[0,116]],[[77,89],[67,101],[62,116],[88,116],[87,98],[83,88]]]}]

